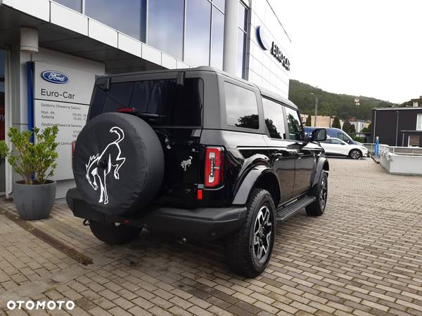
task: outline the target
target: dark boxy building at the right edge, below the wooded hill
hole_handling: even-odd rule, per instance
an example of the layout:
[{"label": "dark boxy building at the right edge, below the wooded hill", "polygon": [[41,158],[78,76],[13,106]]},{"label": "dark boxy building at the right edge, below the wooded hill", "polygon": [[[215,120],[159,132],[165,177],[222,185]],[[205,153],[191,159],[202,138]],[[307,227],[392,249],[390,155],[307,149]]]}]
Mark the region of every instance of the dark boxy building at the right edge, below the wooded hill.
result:
[{"label": "dark boxy building at the right edge, below the wooded hill", "polygon": [[422,147],[422,107],[385,107],[372,110],[371,142]]}]

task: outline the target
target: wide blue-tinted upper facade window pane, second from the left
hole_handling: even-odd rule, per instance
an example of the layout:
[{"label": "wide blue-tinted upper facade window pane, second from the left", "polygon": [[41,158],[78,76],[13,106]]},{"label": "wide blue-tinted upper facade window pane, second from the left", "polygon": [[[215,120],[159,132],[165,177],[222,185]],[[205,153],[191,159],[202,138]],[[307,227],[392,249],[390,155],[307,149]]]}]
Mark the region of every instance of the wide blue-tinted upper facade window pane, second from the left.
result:
[{"label": "wide blue-tinted upper facade window pane, second from the left", "polygon": [[135,39],[145,41],[146,0],[85,0],[85,14]]}]

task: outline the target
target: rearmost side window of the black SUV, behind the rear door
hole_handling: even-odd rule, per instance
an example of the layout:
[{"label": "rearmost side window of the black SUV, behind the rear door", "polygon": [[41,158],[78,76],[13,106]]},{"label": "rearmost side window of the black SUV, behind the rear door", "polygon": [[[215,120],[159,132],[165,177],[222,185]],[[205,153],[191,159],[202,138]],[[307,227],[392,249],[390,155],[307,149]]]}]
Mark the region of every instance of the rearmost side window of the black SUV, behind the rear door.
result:
[{"label": "rearmost side window of the black SUV, behind the rear door", "polygon": [[224,82],[227,125],[259,129],[258,105],[255,92]]}]

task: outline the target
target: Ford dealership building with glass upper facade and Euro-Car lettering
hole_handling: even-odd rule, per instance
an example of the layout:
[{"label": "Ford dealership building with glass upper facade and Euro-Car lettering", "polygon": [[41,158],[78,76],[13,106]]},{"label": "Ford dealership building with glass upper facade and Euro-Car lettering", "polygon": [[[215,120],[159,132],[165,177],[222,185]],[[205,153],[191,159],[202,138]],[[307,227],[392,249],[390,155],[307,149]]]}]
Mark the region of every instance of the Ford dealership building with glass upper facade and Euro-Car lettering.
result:
[{"label": "Ford dealership building with glass upper facade and Euro-Car lettering", "polygon": [[269,0],[0,0],[0,140],[57,124],[64,197],[96,76],[211,66],[287,98],[290,46]]}]

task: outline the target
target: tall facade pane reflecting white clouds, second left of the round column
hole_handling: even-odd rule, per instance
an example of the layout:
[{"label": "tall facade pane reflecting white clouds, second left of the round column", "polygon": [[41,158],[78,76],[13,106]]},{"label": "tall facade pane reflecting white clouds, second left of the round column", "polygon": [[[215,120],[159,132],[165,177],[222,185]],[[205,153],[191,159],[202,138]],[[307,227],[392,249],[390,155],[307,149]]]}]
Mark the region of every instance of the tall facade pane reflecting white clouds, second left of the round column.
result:
[{"label": "tall facade pane reflecting white clouds, second left of the round column", "polygon": [[184,61],[193,67],[210,65],[211,4],[186,0]]}]

